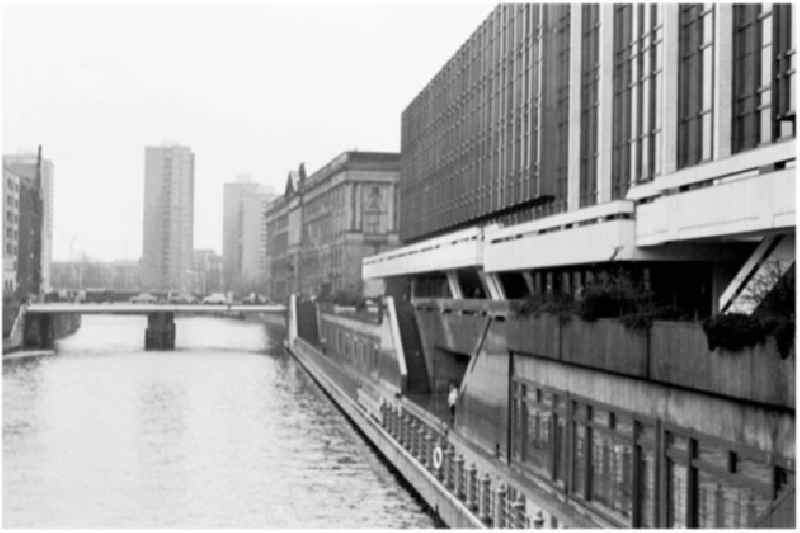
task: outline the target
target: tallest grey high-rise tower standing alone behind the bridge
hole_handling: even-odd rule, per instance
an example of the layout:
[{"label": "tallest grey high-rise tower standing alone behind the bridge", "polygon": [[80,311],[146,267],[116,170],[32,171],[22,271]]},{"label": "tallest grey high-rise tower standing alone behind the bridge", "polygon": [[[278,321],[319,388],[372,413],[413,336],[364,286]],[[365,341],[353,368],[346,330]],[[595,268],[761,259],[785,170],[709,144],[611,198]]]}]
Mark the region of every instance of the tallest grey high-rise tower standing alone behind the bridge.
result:
[{"label": "tallest grey high-rise tower standing alone behind the bridge", "polygon": [[142,278],[147,289],[190,291],[194,250],[194,153],[145,148]]}]

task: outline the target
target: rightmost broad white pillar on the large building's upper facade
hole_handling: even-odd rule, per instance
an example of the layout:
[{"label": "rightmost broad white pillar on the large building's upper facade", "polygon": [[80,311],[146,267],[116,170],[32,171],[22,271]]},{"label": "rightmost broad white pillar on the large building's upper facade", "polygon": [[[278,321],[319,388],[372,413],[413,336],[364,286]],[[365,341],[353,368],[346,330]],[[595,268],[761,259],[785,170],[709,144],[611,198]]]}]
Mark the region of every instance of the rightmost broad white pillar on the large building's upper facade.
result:
[{"label": "rightmost broad white pillar on the large building's upper facade", "polygon": [[714,9],[716,10],[714,14],[714,68],[716,71],[714,72],[713,150],[716,160],[731,155],[733,5],[720,2],[715,4]]}]

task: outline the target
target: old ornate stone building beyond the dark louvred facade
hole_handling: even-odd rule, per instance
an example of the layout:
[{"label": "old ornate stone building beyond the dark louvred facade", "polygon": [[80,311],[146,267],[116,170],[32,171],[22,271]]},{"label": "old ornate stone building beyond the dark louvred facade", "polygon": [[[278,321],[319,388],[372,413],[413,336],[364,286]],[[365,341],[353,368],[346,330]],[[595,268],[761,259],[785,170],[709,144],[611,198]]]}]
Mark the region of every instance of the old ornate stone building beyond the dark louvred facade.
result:
[{"label": "old ornate stone building beyond the dark louvred facade", "polygon": [[267,213],[273,298],[361,293],[361,259],[398,245],[400,156],[344,152],[306,178],[290,173]]}]

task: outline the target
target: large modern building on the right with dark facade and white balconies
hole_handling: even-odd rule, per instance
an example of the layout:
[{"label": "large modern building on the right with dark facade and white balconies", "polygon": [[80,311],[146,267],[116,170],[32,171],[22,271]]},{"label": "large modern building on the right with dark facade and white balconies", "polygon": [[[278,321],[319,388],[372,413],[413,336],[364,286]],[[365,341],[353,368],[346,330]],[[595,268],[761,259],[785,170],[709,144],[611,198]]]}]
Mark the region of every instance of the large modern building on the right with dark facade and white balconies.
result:
[{"label": "large modern building on the right with dark facade and white balconies", "polygon": [[796,53],[789,4],[501,5],[403,112],[363,274],[531,520],[793,527]]}]

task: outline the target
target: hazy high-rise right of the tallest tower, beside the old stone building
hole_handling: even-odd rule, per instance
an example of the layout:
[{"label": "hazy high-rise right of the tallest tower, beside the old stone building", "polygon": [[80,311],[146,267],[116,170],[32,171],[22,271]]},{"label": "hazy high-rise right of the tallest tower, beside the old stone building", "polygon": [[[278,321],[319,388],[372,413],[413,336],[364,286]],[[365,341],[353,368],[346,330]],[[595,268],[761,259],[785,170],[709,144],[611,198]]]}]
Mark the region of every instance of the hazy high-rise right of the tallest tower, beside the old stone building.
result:
[{"label": "hazy high-rise right of the tallest tower, beside the old stone building", "polygon": [[222,253],[229,290],[254,290],[266,281],[265,213],[274,197],[272,188],[249,176],[225,184]]}]

